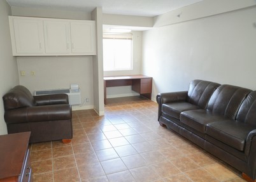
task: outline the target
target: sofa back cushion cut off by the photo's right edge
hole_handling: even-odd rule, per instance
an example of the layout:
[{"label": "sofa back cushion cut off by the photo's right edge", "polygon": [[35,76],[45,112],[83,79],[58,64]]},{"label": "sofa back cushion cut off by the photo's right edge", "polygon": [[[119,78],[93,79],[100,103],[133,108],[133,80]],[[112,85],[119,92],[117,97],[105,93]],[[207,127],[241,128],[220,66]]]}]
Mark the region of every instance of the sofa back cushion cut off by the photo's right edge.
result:
[{"label": "sofa back cushion cut off by the photo's right edge", "polygon": [[246,96],[239,108],[236,120],[256,126],[256,91],[252,91]]}]

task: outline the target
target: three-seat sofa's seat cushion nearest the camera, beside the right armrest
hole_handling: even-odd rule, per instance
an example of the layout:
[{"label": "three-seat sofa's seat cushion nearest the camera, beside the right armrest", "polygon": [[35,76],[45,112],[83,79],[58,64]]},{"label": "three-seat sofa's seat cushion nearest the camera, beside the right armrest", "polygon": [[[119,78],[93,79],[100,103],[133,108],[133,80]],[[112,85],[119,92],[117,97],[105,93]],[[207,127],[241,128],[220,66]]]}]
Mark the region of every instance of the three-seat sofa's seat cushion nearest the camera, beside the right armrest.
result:
[{"label": "three-seat sofa's seat cushion nearest the camera, beside the right armrest", "polygon": [[239,121],[211,122],[206,126],[206,134],[223,143],[243,151],[246,138],[256,126]]}]

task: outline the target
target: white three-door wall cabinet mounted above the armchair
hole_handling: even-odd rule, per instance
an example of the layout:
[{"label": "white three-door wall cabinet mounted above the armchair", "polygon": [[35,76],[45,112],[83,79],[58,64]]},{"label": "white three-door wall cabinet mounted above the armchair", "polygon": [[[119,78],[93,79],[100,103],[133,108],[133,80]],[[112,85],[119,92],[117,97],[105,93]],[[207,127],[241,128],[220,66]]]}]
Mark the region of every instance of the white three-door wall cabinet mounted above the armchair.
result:
[{"label": "white three-door wall cabinet mounted above the armchair", "polygon": [[13,56],[96,55],[95,22],[9,16]]}]

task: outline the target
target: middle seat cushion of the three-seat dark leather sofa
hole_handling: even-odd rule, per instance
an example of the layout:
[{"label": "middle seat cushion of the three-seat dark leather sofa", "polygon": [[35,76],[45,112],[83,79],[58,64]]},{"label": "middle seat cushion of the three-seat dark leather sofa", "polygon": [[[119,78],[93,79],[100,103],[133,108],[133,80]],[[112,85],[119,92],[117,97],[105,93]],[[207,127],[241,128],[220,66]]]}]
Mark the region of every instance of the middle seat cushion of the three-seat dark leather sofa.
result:
[{"label": "middle seat cushion of the three-seat dark leather sofa", "polygon": [[180,122],[196,129],[200,133],[206,133],[206,125],[215,121],[231,120],[223,115],[213,115],[209,110],[187,110],[181,112]]}]

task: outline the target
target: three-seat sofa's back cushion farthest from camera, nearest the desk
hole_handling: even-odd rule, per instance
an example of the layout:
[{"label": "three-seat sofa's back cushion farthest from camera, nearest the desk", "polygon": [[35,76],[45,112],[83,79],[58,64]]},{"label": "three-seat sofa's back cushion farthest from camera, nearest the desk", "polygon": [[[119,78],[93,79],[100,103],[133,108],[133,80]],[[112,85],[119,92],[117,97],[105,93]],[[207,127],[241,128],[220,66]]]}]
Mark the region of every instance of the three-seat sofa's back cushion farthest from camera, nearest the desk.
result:
[{"label": "three-seat sofa's back cushion farthest from camera, nearest the desk", "polygon": [[187,102],[206,108],[211,95],[220,84],[210,81],[194,80],[188,86]]}]

